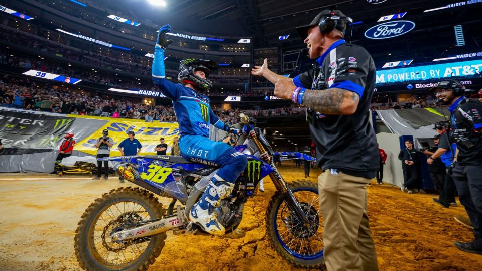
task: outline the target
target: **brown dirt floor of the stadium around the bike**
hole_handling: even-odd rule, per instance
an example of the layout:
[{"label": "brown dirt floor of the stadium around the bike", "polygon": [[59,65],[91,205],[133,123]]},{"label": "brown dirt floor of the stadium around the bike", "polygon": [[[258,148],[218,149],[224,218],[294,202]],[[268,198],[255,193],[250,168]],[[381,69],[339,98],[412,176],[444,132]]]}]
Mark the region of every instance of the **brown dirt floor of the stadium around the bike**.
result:
[{"label": "brown dirt floor of the stadium around the bike", "polygon": [[[295,170],[288,163],[281,173],[286,180],[304,179],[302,169]],[[316,181],[317,174],[312,172],[308,179]],[[73,238],[81,214],[96,197],[122,186],[113,177],[108,181],[78,175],[52,177],[56,178],[0,175],[0,270],[78,270]],[[151,269],[294,270],[267,241],[264,215],[274,186],[267,181],[265,188],[265,193],[245,205],[240,228],[247,231],[246,237],[231,240],[168,233]],[[442,209],[431,195],[403,194],[389,185],[372,185],[368,191],[380,270],[482,270],[482,255],[462,252],[452,244],[473,236],[453,220],[454,215],[465,215],[462,206]]]}]

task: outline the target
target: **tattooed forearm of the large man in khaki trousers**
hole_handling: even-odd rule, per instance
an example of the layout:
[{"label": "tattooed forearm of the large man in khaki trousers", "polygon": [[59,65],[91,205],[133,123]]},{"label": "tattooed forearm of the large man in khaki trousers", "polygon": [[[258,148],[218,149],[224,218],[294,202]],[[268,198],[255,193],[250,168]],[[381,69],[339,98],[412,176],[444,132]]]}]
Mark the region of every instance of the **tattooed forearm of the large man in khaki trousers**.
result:
[{"label": "tattooed forearm of the large man in khaki trousers", "polygon": [[342,114],[342,104],[345,98],[358,104],[358,94],[341,88],[327,90],[306,90],[303,96],[303,105],[324,114]]}]

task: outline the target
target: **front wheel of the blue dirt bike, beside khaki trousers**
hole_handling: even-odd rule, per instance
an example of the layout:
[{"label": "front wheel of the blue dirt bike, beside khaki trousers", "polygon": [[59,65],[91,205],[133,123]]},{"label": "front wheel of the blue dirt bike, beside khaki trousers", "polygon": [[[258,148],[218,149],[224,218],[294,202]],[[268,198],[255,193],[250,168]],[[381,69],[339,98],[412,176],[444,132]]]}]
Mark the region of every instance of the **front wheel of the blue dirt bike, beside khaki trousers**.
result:
[{"label": "front wheel of the blue dirt bike, beside khaki trousers", "polygon": [[312,226],[309,229],[303,227],[286,204],[285,194],[277,191],[266,212],[268,238],[278,254],[290,264],[302,268],[321,267],[324,265],[324,244],[318,186],[310,181],[295,181],[289,186]]}]

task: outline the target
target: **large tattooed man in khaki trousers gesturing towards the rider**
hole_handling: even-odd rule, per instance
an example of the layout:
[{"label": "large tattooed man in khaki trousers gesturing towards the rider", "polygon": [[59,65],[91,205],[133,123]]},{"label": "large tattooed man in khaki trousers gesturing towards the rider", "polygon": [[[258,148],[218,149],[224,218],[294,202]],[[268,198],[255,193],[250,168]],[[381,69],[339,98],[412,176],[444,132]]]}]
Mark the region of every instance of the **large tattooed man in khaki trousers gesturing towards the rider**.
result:
[{"label": "large tattooed man in khaki trousers gesturing towards the rider", "polygon": [[375,65],[362,47],[343,39],[351,18],[324,10],[298,33],[307,44],[313,70],[285,78],[255,66],[275,84],[275,95],[308,107],[307,120],[317,148],[320,212],[328,270],[378,270],[367,216],[366,187],[375,178],[379,157],[369,106]]}]

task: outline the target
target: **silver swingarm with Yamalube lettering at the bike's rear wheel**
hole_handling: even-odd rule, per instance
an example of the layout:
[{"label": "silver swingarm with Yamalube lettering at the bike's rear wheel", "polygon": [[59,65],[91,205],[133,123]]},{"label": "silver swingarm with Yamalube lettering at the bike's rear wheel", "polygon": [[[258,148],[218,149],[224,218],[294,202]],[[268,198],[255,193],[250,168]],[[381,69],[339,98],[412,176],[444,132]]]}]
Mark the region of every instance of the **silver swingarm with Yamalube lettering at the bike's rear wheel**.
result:
[{"label": "silver swingarm with Yamalube lettering at the bike's rear wheel", "polygon": [[137,228],[128,229],[112,234],[112,242],[134,239],[139,237],[151,236],[166,232],[182,225],[181,219],[177,215],[170,215],[164,219],[142,225]]}]

